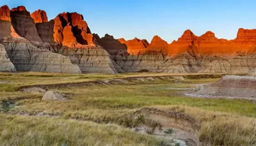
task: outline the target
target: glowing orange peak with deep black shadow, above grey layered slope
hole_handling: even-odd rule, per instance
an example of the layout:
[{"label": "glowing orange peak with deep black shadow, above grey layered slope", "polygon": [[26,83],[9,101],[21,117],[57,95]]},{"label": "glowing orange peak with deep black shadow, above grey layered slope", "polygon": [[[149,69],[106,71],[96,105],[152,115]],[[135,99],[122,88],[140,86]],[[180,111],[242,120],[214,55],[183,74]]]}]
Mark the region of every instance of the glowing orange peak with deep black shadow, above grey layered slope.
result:
[{"label": "glowing orange peak with deep black shadow, above grey layered slope", "polygon": [[83,47],[82,45],[95,46],[93,35],[83,15],[63,12],[53,21],[53,37],[57,44],[78,48]]}]

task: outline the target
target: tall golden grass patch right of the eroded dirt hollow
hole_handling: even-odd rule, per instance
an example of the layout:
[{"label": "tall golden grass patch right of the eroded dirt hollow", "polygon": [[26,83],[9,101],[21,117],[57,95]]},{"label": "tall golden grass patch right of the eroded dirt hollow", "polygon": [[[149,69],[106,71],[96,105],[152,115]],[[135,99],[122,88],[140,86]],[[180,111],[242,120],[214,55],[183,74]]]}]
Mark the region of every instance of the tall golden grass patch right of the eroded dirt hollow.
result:
[{"label": "tall golden grass patch right of the eroded dirt hollow", "polygon": [[187,106],[157,106],[165,111],[179,111],[193,116],[202,124],[199,140],[214,146],[255,146],[256,119],[213,112]]}]

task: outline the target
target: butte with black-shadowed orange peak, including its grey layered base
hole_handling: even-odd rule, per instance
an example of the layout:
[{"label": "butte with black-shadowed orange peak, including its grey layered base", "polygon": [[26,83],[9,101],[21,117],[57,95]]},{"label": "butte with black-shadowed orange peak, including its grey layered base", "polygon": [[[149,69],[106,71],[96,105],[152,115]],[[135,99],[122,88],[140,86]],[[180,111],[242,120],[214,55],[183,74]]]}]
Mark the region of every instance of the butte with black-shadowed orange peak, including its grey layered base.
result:
[{"label": "butte with black-shadowed orange peak, including its grey layered base", "polygon": [[37,23],[36,26],[43,42],[58,44],[55,45],[57,48],[53,48],[54,52],[68,56],[82,72],[123,72],[111,55],[94,44],[93,35],[83,15],[62,13],[54,20]]}]

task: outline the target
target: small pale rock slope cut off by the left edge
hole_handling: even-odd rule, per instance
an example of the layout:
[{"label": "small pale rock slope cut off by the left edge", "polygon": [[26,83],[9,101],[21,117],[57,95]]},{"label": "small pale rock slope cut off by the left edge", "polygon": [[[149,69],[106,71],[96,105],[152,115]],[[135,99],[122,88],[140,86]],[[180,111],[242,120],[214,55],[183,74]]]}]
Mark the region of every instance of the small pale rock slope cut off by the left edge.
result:
[{"label": "small pale rock slope cut off by the left edge", "polygon": [[0,71],[16,71],[6,53],[5,46],[2,44],[0,44]]}]

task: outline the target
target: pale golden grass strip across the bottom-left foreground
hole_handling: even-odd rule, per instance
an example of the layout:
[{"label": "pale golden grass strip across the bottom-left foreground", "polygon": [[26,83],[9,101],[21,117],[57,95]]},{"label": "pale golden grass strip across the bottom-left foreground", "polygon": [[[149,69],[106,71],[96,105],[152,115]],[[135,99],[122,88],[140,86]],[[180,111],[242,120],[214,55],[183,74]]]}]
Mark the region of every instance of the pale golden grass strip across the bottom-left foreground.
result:
[{"label": "pale golden grass strip across the bottom-left foreground", "polygon": [[0,119],[0,146],[159,146],[162,142],[172,144],[171,140],[164,141],[110,124],[2,114]]}]

